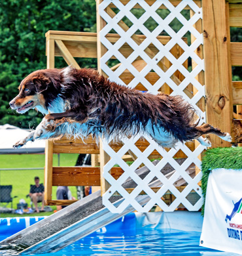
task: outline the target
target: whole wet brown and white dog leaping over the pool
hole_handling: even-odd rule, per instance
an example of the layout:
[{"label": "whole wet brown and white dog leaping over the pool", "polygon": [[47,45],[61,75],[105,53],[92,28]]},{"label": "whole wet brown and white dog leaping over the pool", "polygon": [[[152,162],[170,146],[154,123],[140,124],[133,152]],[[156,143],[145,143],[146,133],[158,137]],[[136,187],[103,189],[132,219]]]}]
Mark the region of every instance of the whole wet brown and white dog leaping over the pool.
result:
[{"label": "whole wet brown and white dog leaping over the pool", "polygon": [[10,102],[23,114],[35,108],[43,121],[27,141],[73,135],[84,139],[92,134],[120,140],[139,132],[150,135],[160,146],[173,147],[178,141],[197,139],[205,146],[211,142],[201,135],[213,133],[231,141],[228,133],[205,123],[194,123],[194,109],[181,96],[151,95],[109,81],[92,69],[71,68],[37,70],[29,74]]}]

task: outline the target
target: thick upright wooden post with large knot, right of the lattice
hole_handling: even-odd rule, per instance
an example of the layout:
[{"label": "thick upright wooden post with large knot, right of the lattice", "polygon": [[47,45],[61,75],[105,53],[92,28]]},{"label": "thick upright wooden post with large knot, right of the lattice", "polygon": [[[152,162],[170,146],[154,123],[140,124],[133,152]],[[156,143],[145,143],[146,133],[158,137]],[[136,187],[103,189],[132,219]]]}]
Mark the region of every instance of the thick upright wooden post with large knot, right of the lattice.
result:
[{"label": "thick upright wooden post with large knot, right of the lattice", "polygon": [[[232,132],[231,64],[225,0],[203,0],[203,37],[207,123]],[[213,147],[230,146],[215,135]]]}]

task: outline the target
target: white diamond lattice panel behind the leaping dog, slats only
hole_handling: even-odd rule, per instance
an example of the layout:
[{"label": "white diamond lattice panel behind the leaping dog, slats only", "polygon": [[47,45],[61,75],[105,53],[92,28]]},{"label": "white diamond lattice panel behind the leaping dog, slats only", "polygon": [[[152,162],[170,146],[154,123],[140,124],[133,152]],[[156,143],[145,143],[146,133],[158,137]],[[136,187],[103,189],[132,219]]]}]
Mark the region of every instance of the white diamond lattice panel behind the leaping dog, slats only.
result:
[{"label": "white diamond lattice panel behind the leaping dog, slats only", "polygon": [[[116,6],[116,10],[118,11],[113,18],[107,13],[107,7],[109,8],[111,4],[114,4]],[[137,18],[131,12],[134,7],[137,7],[137,4],[139,4],[139,7],[145,11],[139,18]],[[163,7],[168,10],[167,12],[169,12],[165,18],[162,18],[158,14],[159,12],[157,12],[161,5],[163,5]],[[113,5],[111,6],[113,7]],[[188,19],[185,18],[181,13],[185,8],[193,11],[192,15]],[[198,32],[194,26],[194,24],[196,24],[196,22],[202,18],[202,9],[199,8],[198,5],[192,0],[183,0],[176,7],[173,6],[173,4],[168,0],[157,0],[151,6],[148,5],[144,0],[130,0],[126,5],[123,5],[121,1],[118,0],[104,0],[99,5],[99,14],[101,18],[107,22],[107,25],[100,32],[101,43],[107,48],[107,52],[103,54],[101,58],[101,70],[103,70],[103,72],[109,76],[109,79],[116,81],[116,83],[124,84],[122,79],[120,79],[120,75],[128,70],[134,77],[128,84],[128,87],[135,88],[139,83],[141,83],[149,93],[153,94],[157,94],[162,85],[166,83],[173,91],[171,95],[182,95],[183,98],[194,106],[198,116],[201,118],[201,123],[205,121],[205,112],[198,107],[199,100],[205,96],[205,89],[204,85],[199,83],[198,79],[196,79],[197,75],[204,70],[204,64],[203,59],[199,58],[199,56],[195,53],[196,49],[198,49],[200,45],[203,45],[203,35],[201,32]],[[156,24],[156,28],[154,28],[152,31],[148,30],[147,26],[145,26],[150,17],[152,17],[152,22]],[[118,24],[124,18],[126,20],[130,20],[130,24],[132,24],[127,31],[123,30],[123,28],[121,28]],[[177,32],[171,28],[171,22],[173,22],[174,19],[177,19],[177,23],[181,24],[181,28]],[[116,43],[111,43],[106,38],[107,33],[111,32],[112,30],[115,30],[116,33],[120,35],[120,39],[118,39]],[[143,40],[143,42],[140,44],[135,43],[135,41],[131,38],[132,35],[137,32],[137,30],[143,33],[143,35],[146,37],[145,40]],[[161,41],[157,37],[164,31],[171,38],[165,45],[162,45]],[[187,33],[190,33],[196,37],[191,45],[188,45],[184,38],[182,38]],[[127,43],[132,49],[132,53],[127,58],[119,51],[120,47],[122,47],[124,43]],[[154,47],[158,49],[155,56],[151,58],[147,53],[145,53],[145,49],[147,49],[150,44],[154,45]],[[175,45],[179,45],[182,52],[184,51],[179,58],[175,58],[175,56],[171,54],[171,49],[173,49]],[[108,65],[108,61],[113,58],[112,56],[114,56],[120,62],[120,66],[118,66],[118,68],[116,68],[114,71],[112,71],[111,67]],[[140,72],[133,66],[133,62],[135,62],[138,57],[145,60],[147,64]],[[160,66],[158,66],[158,63],[164,57],[171,63],[167,70],[164,70],[164,68],[162,69]],[[196,62],[197,64],[197,66],[191,71],[188,71],[188,69],[184,66],[184,62],[186,62],[188,58],[192,59],[192,61]],[[152,85],[146,79],[147,74],[151,70],[152,72],[156,72],[156,74],[158,74],[160,77],[156,83],[154,83],[154,85]],[[179,82],[179,85],[175,83],[172,76],[175,72],[177,72],[177,70],[184,77],[184,79]],[[191,85],[194,89],[196,88],[196,94],[194,93],[192,96],[187,96],[184,89]],[[167,152],[158,146],[158,144],[156,144],[152,139],[145,137],[145,139],[149,142],[149,146],[144,152],[141,152],[139,148],[135,146],[135,142],[137,142],[140,137],[141,135],[131,139],[124,139],[122,141],[124,146],[118,152],[114,152],[114,150],[112,150],[112,148],[109,146],[109,142],[103,141],[103,149],[105,152],[107,152],[107,154],[109,154],[109,156],[111,156],[111,160],[105,165],[103,170],[105,180],[111,184],[109,191],[103,195],[103,204],[114,213],[124,211],[128,205],[133,205],[133,207],[135,207],[135,209],[139,212],[147,212],[154,204],[159,205],[164,211],[174,211],[180,205],[180,203],[182,203],[182,205],[184,205],[184,207],[190,211],[198,211],[202,204],[201,188],[198,185],[198,182],[201,179],[201,173],[192,179],[192,177],[186,173],[186,169],[188,169],[192,163],[200,167],[201,162],[198,159],[198,156],[205,149],[205,147],[199,145],[196,150],[192,152],[185,144],[180,143],[176,148],[172,148],[169,150],[169,152]],[[131,152],[137,156],[137,160],[135,160],[130,167],[124,160],[122,160],[122,156],[124,156],[128,150],[131,150]],[[148,156],[150,156],[151,152],[154,150],[157,150],[160,156],[162,156],[162,160],[156,166],[154,166],[153,163],[148,160]],[[175,156],[179,150],[182,150],[182,152],[188,156],[182,165],[179,165],[179,163],[177,163],[177,161],[175,161],[173,158],[173,156]],[[150,169],[150,173],[148,173],[147,177],[145,177],[143,180],[135,174],[135,169],[137,169],[141,163],[145,164],[148,169]],[[162,168],[167,163],[169,163],[173,169],[175,169],[175,173],[169,179],[167,179],[161,172]],[[124,170],[122,176],[117,180],[112,178],[112,176],[109,174],[110,169],[115,164],[120,165],[120,167],[122,167]],[[131,194],[129,194],[122,187],[122,184],[129,177],[137,184]],[[148,186],[148,183],[150,183],[154,177],[160,179],[163,184],[160,190],[158,190],[156,193]],[[179,190],[177,190],[177,188],[174,186],[174,183],[179,177],[182,177],[187,183],[186,188],[184,188],[182,192],[179,192]],[[150,197],[150,201],[143,206],[135,200],[142,190],[144,190]],[[175,196],[175,200],[171,203],[171,205],[167,205],[164,200],[162,200],[162,196],[164,196],[167,190],[169,190],[169,192]],[[192,203],[186,199],[192,190],[201,197],[194,205],[192,205]],[[109,201],[109,198],[112,196],[112,194],[114,194],[114,192],[118,192],[125,199],[124,202],[118,206],[118,208],[114,207],[114,205],[112,205],[112,203]]]}]

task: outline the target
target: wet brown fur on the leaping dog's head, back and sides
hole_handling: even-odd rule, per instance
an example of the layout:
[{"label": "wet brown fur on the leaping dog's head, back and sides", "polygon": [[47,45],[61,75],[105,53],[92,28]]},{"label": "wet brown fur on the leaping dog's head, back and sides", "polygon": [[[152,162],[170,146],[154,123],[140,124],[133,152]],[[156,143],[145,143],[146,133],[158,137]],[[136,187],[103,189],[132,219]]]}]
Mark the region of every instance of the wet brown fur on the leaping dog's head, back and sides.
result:
[{"label": "wet brown fur on the leaping dog's head, back and sides", "polygon": [[[24,87],[31,87],[33,95],[39,95],[39,102],[46,109],[58,96],[67,102],[65,112],[46,116],[56,121],[55,128],[61,123],[79,122],[90,125],[94,135],[119,136],[145,131],[151,123],[153,131],[156,127],[180,141],[207,133],[226,136],[209,124],[194,123],[194,108],[181,96],[142,93],[118,85],[92,69],[37,70],[22,81],[20,94]],[[24,100],[26,96],[16,98],[21,97]]]}]

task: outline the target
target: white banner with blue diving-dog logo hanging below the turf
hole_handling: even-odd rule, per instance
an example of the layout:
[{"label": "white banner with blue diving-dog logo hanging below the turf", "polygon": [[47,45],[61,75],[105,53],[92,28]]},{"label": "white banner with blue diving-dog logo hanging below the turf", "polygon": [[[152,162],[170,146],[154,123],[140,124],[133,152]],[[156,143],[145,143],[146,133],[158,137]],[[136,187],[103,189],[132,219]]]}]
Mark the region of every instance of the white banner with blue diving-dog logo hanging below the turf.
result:
[{"label": "white banner with blue diving-dog logo hanging below the turf", "polygon": [[211,171],[200,245],[242,254],[242,169]]}]

